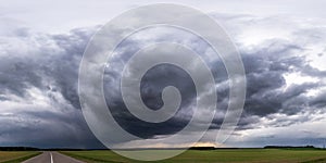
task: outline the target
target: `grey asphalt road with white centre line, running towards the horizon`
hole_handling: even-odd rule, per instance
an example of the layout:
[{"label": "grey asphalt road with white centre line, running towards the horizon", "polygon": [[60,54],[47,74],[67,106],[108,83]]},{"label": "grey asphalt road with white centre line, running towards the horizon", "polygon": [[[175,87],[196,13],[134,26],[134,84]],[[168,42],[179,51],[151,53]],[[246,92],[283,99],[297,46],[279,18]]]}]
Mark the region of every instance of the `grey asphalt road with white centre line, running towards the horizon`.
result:
[{"label": "grey asphalt road with white centre line, running towards the horizon", "polygon": [[24,161],[23,163],[84,163],[59,152],[43,152],[40,155]]}]

